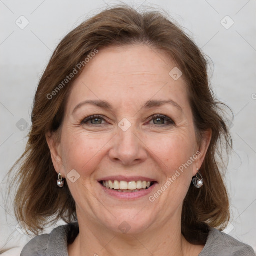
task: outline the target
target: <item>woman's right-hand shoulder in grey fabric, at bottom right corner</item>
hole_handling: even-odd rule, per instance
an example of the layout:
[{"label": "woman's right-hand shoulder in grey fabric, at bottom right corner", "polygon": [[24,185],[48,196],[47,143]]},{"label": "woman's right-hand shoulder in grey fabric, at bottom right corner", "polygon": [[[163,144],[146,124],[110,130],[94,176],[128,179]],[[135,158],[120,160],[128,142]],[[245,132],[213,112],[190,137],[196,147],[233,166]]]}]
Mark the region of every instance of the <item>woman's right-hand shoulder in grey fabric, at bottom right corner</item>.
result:
[{"label": "woman's right-hand shoulder in grey fabric, at bottom right corner", "polygon": [[251,246],[242,243],[232,236],[211,228],[206,244],[199,256],[255,256]]}]

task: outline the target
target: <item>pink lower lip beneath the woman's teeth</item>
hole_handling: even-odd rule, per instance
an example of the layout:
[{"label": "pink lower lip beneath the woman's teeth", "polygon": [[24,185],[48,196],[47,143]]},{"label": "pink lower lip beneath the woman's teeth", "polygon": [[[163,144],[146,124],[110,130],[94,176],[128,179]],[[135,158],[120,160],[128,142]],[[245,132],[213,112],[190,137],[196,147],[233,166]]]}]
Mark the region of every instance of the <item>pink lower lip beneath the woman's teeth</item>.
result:
[{"label": "pink lower lip beneath the woman's teeth", "polygon": [[99,183],[99,185],[102,187],[103,191],[110,195],[110,196],[113,196],[115,198],[118,198],[118,199],[137,199],[137,198],[141,198],[143,196],[146,196],[148,195],[149,193],[152,192],[152,190],[154,189],[154,187],[156,186],[156,182],[153,183],[149,188],[147,189],[143,189],[143,190],[140,190],[140,191],[137,191],[137,192],[118,192],[117,190],[115,189],[110,189],[110,188],[107,188],[103,185],[101,185]]}]

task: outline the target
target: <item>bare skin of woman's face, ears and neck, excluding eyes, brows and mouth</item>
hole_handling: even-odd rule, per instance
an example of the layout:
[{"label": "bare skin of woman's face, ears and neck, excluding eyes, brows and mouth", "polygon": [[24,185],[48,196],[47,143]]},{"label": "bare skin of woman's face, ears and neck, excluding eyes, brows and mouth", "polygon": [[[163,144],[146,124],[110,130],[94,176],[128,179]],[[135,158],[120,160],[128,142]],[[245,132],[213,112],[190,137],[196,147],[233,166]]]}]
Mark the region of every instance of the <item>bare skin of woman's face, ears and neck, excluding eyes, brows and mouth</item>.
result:
[{"label": "bare skin of woman's face, ears and neck, excluding eyes, brows and mouth", "polygon": [[[196,168],[202,164],[210,134],[202,141],[201,155],[153,203],[148,196],[133,201],[112,198],[96,181],[106,175],[142,175],[157,180],[156,192],[198,150],[184,80],[174,81],[169,76],[175,63],[167,58],[168,65],[162,63],[145,45],[108,47],[99,51],[73,84],[60,143],[50,146],[52,154],[60,160],[60,163],[54,162],[53,157],[54,167],[60,169],[64,178],[71,169],[80,174],[75,183],[66,179],[76,203],[80,227],[74,243],[68,246],[70,256],[96,252],[114,256],[148,255],[149,252],[155,256],[194,256],[203,248],[185,240],[180,218],[183,199]],[[161,80],[167,84],[163,86]],[[147,100],[167,100],[168,96],[183,112],[169,104],[138,111]],[[114,108],[106,111],[84,106],[71,115],[74,107],[87,99],[105,100]],[[173,118],[176,125],[158,127],[153,121],[150,121],[151,127],[144,125],[144,120],[157,113]],[[93,114],[106,116],[111,123],[80,124],[84,117]],[[122,118],[131,123],[125,132],[117,126]],[[90,159],[88,163],[87,159]],[[118,229],[123,221],[131,226],[127,234]]]}]

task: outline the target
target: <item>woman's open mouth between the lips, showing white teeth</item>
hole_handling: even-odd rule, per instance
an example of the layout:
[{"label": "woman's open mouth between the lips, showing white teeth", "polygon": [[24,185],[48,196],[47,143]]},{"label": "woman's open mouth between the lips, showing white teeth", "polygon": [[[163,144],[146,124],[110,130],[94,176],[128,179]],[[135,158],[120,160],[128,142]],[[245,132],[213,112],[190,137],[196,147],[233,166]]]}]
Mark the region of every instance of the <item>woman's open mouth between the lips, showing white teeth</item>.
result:
[{"label": "woman's open mouth between the lips, showing white teeth", "polygon": [[153,186],[156,181],[146,181],[146,180],[100,180],[99,183],[108,189],[115,190],[122,193],[131,193],[147,190],[149,187]]}]

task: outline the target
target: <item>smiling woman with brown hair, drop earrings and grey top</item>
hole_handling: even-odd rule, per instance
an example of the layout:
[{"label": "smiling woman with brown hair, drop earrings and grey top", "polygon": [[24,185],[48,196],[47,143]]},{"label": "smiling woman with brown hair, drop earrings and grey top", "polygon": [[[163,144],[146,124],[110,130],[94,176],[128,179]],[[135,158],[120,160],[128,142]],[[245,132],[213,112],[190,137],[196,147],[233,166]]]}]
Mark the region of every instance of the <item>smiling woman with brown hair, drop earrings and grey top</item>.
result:
[{"label": "smiling woman with brown hair, drop earrings and grey top", "polygon": [[71,31],[35,94],[15,214],[21,255],[254,255],[229,220],[220,142],[231,138],[198,47],[126,5]]}]

